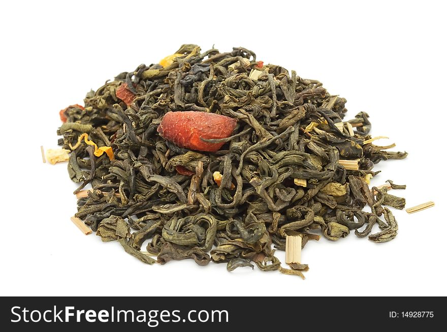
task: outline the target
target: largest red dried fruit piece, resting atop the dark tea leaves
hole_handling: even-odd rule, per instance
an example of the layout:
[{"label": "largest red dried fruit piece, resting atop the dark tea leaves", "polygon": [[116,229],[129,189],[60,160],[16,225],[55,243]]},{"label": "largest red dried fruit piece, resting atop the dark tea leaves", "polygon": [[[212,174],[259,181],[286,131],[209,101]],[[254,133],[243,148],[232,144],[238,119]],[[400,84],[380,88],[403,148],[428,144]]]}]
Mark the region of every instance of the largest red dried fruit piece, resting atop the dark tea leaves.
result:
[{"label": "largest red dried fruit piece, resting atop the dark tea leaves", "polygon": [[160,136],[181,148],[215,152],[225,143],[208,143],[201,139],[230,137],[236,119],[199,111],[168,112],[157,128]]}]

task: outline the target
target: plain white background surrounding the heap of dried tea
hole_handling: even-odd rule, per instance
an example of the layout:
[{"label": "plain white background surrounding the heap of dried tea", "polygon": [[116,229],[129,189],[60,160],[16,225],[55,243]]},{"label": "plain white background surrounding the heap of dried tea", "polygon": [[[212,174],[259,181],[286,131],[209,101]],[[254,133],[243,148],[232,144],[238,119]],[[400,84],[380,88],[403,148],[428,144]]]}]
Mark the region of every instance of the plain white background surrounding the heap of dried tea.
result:
[{"label": "plain white background surrounding the heap of dried tea", "polygon": [[[424,2],[8,1],[0,14],[2,96],[0,295],[447,295],[445,286],[446,7]],[[243,46],[366,111],[406,160],[373,179],[406,183],[397,238],[309,242],[306,280],[192,260],[146,265],[70,221],[76,185],[57,148],[58,111],[183,43]],[[278,253],[283,261],[283,252]]]}]

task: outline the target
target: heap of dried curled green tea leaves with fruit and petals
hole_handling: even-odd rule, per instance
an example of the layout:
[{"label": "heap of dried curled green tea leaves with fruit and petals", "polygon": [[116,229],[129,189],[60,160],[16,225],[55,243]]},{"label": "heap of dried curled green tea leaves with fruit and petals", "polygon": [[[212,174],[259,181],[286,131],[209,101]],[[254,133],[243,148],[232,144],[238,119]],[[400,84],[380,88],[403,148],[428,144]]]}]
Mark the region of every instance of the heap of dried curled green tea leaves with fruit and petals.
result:
[{"label": "heap of dried curled green tea leaves with fruit and petals", "polygon": [[374,145],[364,112],[343,122],[345,98],[250,50],[182,45],[84,103],[60,111],[57,131],[81,184],[75,216],[145,263],[192,258],[302,276],[306,264],[284,269],[275,256],[288,236],[302,246],[318,233],[396,237],[382,206],[402,209],[387,190],[404,186],[368,184],[375,163],[407,153]]}]

